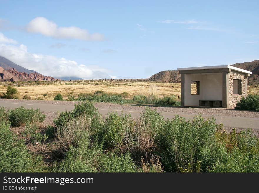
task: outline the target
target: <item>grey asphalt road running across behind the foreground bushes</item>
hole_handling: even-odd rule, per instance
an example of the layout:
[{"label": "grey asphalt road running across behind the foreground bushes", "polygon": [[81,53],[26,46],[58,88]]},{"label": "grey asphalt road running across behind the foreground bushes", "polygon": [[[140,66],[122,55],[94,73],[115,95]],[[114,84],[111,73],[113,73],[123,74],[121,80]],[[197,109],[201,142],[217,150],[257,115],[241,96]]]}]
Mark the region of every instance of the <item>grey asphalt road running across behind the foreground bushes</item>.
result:
[{"label": "grey asphalt road running across behind the foreground bushes", "polygon": [[[48,104],[48,103],[30,103],[30,101],[23,101],[22,103],[20,102],[15,102],[15,101],[8,101],[8,100],[0,100],[0,106],[4,106],[6,108],[16,108],[19,106],[24,106],[25,108],[39,108],[42,111],[54,111],[54,112],[61,112],[64,110],[73,110],[74,105],[58,105],[58,104]],[[99,113],[102,115],[107,114],[110,111],[118,112],[121,113],[122,109],[110,109],[110,108],[98,108]],[[137,117],[140,115],[140,111],[127,111],[123,110],[123,113],[125,114],[131,114],[132,117]],[[188,113],[168,113],[168,112],[161,112],[162,115],[165,118],[174,118],[175,114],[178,114],[185,119],[192,119],[195,115],[194,114],[188,114]],[[209,118],[211,117],[210,115],[203,115],[204,118]],[[245,118],[245,117],[230,117],[230,116],[216,116],[217,123],[223,123],[225,127],[233,127],[233,128],[252,128],[255,130],[259,130],[259,118]]]}]

